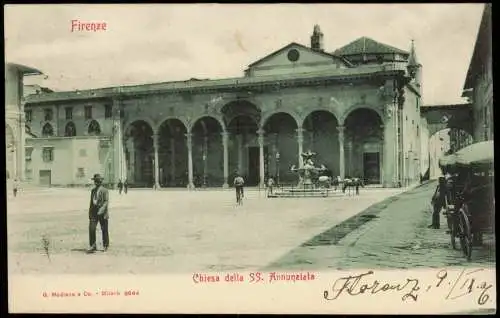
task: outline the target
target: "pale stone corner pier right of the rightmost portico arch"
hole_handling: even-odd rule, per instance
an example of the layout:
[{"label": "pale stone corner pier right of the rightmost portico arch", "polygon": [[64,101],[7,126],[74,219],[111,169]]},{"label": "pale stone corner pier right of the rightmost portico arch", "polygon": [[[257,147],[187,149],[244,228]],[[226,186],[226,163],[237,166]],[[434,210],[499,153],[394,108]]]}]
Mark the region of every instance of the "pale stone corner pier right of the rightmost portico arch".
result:
[{"label": "pale stone corner pier right of the rightmost portico arch", "polygon": [[386,116],[384,119],[384,154],[383,154],[383,186],[386,188],[395,187],[397,184],[397,122],[396,107],[394,105],[386,106]]}]

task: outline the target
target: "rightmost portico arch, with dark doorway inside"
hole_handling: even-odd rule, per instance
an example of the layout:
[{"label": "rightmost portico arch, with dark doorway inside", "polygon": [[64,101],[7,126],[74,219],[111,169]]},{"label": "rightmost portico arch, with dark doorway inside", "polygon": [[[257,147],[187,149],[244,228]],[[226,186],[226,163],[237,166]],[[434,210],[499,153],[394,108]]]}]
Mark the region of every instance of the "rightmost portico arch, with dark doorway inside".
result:
[{"label": "rightmost portico arch, with dark doorway inside", "polygon": [[343,118],[346,177],[364,178],[367,184],[382,181],[383,120],[373,108],[353,107]]}]

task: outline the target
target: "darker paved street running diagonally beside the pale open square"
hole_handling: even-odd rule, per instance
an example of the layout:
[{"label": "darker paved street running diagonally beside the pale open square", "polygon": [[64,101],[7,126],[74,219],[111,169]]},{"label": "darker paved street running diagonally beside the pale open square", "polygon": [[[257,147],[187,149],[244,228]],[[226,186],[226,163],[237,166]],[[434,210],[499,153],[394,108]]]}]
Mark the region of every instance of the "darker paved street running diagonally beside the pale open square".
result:
[{"label": "darker paved street running diagonally beside the pale open square", "polygon": [[435,187],[436,182],[431,182],[385,200],[362,213],[375,215],[375,218],[349,232],[339,242],[325,245],[320,239],[313,239],[267,269],[495,267],[492,234],[484,236],[484,246],[473,248],[472,260],[468,262],[461,250],[451,248],[442,214],[441,229],[427,228],[432,215],[429,203]]}]

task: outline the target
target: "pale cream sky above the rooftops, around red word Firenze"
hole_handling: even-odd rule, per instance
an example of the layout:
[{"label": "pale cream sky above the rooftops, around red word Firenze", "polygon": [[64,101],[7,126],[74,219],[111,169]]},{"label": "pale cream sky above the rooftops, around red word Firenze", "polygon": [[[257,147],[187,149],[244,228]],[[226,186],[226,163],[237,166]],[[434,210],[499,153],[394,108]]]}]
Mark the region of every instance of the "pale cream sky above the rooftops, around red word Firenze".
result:
[{"label": "pale cream sky above the rooftops, around red word Firenze", "polygon": [[[463,102],[483,4],[7,5],[8,62],[44,72],[27,78],[56,91],[243,76],[252,62],[298,42],[315,24],[333,52],[367,36],[423,65],[425,105]],[[106,31],[71,32],[71,20]]]}]

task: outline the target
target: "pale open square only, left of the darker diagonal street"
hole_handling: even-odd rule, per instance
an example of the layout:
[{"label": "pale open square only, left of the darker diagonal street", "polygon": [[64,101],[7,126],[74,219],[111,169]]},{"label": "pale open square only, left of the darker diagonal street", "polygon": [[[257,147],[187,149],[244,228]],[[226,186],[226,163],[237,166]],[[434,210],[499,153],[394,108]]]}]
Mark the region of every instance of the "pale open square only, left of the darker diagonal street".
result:
[{"label": "pale open square only, left of the darker diagonal street", "polygon": [[[110,249],[87,255],[89,190],[8,198],[11,273],[172,273],[263,268],[304,241],[401,192],[268,199],[247,189],[110,191]],[[97,229],[100,244],[100,230]],[[49,241],[49,256],[42,238]],[[101,246],[102,248],[102,246]]]}]

